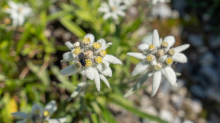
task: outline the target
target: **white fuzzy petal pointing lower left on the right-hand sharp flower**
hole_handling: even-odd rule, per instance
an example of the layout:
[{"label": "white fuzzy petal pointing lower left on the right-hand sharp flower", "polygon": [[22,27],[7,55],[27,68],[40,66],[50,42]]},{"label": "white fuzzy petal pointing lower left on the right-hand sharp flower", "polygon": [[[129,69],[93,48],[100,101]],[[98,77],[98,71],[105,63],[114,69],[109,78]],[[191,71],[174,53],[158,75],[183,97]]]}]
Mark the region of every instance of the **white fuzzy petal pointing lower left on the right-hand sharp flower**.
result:
[{"label": "white fuzzy petal pointing lower left on the right-hand sharp flower", "polygon": [[135,66],[134,70],[131,73],[131,76],[133,77],[137,74],[140,74],[140,73],[147,71],[148,66],[149,66],[149,64],[147,64],[146,61],[141,61],[140,63],[138,63]]}]

